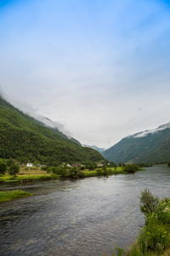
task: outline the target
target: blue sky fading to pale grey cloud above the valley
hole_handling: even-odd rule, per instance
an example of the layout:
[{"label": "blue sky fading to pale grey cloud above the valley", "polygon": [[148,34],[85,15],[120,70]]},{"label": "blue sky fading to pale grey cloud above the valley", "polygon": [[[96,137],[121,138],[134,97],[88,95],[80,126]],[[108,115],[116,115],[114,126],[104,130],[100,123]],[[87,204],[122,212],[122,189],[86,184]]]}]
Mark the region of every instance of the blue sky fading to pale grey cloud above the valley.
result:
[{"label": "blue sky fading to pale grey cloud above the valley", "polygon": [[101,148],[170,122],[170,1],[0,1],[0,92]]}]

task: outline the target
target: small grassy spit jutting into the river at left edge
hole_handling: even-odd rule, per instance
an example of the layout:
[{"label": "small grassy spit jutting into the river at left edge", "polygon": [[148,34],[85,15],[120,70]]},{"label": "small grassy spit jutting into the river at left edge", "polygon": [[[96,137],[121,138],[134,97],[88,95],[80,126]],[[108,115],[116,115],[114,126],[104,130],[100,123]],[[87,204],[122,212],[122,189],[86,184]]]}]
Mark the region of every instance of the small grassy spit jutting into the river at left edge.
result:
[{"label": "small grassy spit jutting into the river at left edge", "polygon": [[0,202],[10,201],[32,195],[22,190],[0,191]]}]

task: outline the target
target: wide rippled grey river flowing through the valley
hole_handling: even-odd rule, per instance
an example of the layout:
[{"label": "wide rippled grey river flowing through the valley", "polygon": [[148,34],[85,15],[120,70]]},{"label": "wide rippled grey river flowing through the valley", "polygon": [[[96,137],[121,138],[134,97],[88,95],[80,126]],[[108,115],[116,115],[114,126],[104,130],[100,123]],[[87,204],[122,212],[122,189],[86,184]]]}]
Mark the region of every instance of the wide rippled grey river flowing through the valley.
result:
[{"label": "wide rippled grey river flowing through the valley", "polygon": [[51,181],[23,186],[34,195],[0,204],[0,255],[111,255],[126,248],[144,224],[140,191],[170,196],[170,169],[109,178]]}]

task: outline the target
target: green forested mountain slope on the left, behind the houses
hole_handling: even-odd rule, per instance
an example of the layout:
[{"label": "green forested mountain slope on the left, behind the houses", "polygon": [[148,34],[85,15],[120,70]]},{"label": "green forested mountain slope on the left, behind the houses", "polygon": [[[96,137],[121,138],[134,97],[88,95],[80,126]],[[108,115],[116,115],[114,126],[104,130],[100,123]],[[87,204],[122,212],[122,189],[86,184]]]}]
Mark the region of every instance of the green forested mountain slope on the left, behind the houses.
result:
[{"label": "green forested mountain slope on the left, behind the houses", "polygon": [[20,162],[37,161],[48,165],[61,162],[92,163],[105,160],[98,151],[83,148],[57,128],[45,126],[14,108],[0,96],[0,158]]}]

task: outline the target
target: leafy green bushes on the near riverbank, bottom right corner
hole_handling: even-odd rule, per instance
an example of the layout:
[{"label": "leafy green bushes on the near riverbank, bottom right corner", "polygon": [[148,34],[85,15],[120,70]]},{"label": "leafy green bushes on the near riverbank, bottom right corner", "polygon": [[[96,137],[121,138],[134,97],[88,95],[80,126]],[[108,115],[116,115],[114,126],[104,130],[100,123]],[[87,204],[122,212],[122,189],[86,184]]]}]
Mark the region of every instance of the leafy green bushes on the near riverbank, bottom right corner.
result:
[{"label": "leafy green bushes on the near riverbank, bottom right corner", "polygon": [[141,194],[140,209],[146,221],[137,242],[133,243],[127,255],[161,255],[170,247],[170,199],[159,201],[149,189]]}]

